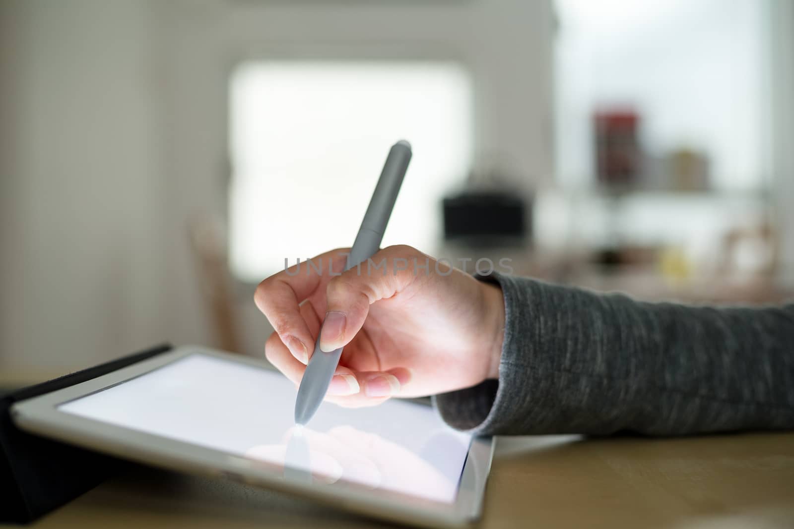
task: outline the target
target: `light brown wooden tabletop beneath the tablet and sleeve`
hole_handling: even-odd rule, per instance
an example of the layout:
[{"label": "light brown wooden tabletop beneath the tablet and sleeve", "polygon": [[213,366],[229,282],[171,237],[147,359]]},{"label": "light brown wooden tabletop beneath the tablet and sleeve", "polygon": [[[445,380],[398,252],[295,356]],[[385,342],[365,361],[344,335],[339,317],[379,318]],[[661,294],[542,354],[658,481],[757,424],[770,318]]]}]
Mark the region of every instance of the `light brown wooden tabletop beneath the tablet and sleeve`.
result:
[{"label": "light brown wooden tabletop beneath the tablet and sleeve", "polygon": [[[141,468],[30,527],[395,527]],[[794,433],[500,438],[480,527],[794,527]]]}]

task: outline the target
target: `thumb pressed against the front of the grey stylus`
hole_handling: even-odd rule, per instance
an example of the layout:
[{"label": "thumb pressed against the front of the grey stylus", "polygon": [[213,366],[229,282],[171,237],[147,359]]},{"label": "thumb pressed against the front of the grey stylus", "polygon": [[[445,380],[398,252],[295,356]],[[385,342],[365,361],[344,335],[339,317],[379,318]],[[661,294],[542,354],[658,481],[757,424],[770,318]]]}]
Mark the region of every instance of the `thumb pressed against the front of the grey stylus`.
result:
[{"label": "thumb pressed against the front of the grey stylus", "polygon": [[368,261],[333,278],[326,287],[327,312],[320,332],[320,349],[345,347],[360,331],[369,306],[392,297],[414,280],[413,261],[426,255],[407,246],[378,251]]}]

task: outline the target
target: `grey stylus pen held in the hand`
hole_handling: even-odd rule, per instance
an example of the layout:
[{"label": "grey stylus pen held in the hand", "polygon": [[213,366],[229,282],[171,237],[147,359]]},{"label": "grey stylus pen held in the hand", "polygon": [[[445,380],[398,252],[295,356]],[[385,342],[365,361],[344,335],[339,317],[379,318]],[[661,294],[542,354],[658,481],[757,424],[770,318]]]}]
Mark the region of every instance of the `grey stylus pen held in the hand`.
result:
[{"label": "grey stylus pen held in the hand", "polygon": [[[391,209],[394,209],[410,156],[410,144],[406,140],[399,140],[391,146],[384,171],[380,173],[367,213],[364,214],[364,220],[361,221],[358,235],[348,255],[345,270],[364,263],[380,248],[380,240],[384,238],[386,224],[391,217]],[[368,268],[360,266],[359,270],[361,274],[365,274]],[[295,423],[306,424],[314,416],[314,412],[326,396],[341,354],[341,347],[326,353],[320,349],[319,339],[314,344],[314,353],[306,366],[306,372],[298,389],[298,397],[295,399]]]}]

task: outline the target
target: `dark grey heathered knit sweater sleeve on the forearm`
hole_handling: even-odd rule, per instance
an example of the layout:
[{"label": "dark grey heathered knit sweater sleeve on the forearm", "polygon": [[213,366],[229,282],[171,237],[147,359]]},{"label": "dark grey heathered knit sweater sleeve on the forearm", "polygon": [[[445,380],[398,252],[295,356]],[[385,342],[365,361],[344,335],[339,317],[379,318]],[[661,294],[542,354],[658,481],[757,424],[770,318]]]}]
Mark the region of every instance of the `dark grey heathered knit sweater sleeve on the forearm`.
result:
[{"label": "dark grey heathered knit sweater sleeve on the forearm", "polygon": [[794,305],[650,304],[494,275],[499,380],[434,397],[478,435],[794,429]]}]

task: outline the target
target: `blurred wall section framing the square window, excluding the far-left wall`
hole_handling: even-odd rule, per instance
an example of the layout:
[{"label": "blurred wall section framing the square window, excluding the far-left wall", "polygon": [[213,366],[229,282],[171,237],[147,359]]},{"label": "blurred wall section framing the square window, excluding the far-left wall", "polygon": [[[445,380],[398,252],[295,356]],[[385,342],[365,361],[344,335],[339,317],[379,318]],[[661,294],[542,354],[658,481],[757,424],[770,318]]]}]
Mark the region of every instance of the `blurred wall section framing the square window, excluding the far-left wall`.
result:
[{"label": "blurred wall section framing the square window, excluding the far-left wall", "polygon": [[[168,109],[169,206],[188,218],[223,211],[229,178],[227,82],[244,59],[457,59],[475,86],[475,163],[507,160],[527,192],[552,174],[549,0],[468,2],[212,2],[157,4]],[[183,225],[171,227],[169,297],[176,343],[201,338]],[[267,234],[263,234],[267,241]],[[318,248],[324,251],[326,248]],[[251,287],[252,289],[252,287]],[[245,351],[271,329],[241,295]],[[199,336],[196,338],[196,336]]]}]

